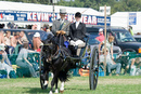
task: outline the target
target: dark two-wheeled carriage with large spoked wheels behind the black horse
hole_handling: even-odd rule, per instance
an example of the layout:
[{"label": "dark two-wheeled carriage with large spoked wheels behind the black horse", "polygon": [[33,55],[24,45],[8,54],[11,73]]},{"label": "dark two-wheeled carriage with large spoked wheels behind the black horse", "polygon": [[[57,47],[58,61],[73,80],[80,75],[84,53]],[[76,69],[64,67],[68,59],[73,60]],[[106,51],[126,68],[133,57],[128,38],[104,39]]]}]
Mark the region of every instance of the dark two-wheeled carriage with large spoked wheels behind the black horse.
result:
[{"label": "dark two-wheeled carriage with large spoked wheels behind the black horse", "polygon": [[[60,35],[60,36],[63,36],[63,35]],[[66,55],[66,53],[67,53],[66,51],[70,51],[69,45],[68,45],[68,48],[65,46],[65,49],[62,49],[62,48],[64,48],[64,46],[61,45],[62,39],[59,38],[57,40],[59,40],[59,42],[57,42],[59,45],[54,44],[53,42],[48,42],[41,48],[41,53],[40,53],[40,84],[41,84],[41,89],[44,90],[44,89],[48,88],[48,85],[44,85],[44,79],[42,78],[42,76],[44,75],[44,72],[43,72],[44,63],[43,62],[48,62],[48,64],[51,65],[51,64],[53,64],[52,63],[53,59],[56,59],[57,57],[61,56],[61,57],[63,57],[63,62],[64,62],[63,66],[67,66],[67,65],[65,65],[65,62],[69,61],[69,62],[73,63],[73,65],[77,65],[77,67],[79,67],[79,68],[81,68],[84,66],[84,64],[81,62],[84,58],[90,59],[89,84],[90,84],[90,90],[95,90],[97,84],[98,84],[98,77],[99,77],[99,52],[98,52],[98,48],[93,48],[91,55],[86,57],[85,53],[87,51],[86,49],[87,49],[87,44],[88,44],[88,40],[89,40],[89,37],[86,36],[86,38],[84,39],[86,44],[85,44],[85,46],[81,46],[80,55],[79,56]],[[63,43],[64,43],[64,41],[63,41]],[[54,54],[52,54],[53,49],[54,49],[53,45],[57,45]],[[50,53],[49,53],[49,50],[47,50],[47,48],[50,48]],[[48,55],[50,55],[50,56],[47,58]],[[63,70],[63,67],[61,67],[61,69]],[[49,78],[49,72],[46,73],[46,75]]]}]

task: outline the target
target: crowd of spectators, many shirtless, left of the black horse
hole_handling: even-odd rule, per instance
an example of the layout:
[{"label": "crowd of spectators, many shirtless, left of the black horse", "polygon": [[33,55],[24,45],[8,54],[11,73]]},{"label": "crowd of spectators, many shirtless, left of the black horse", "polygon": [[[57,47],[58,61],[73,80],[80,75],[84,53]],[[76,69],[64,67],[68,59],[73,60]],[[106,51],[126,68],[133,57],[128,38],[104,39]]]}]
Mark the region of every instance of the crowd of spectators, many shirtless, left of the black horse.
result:
[{"label": "crowd of spectators, many shirtless, left of the black horse", "polygon": [[13,71],[12,64],[8,55],[14,53],[15,48],[21,45],[20,52],[16,58],[16,65],[21,68],[28,68],[31,77],[37,77],[31,63],[27,59],[28,53],[40,52],[39,46],[42,44],[40,40],[40,33],[36,32],[33,37],[34,49],[28,50],[28,39],[24,31],[13,32],[0,30],[0,70],[7,70],[7,78],[10,78],[10,71]]}]

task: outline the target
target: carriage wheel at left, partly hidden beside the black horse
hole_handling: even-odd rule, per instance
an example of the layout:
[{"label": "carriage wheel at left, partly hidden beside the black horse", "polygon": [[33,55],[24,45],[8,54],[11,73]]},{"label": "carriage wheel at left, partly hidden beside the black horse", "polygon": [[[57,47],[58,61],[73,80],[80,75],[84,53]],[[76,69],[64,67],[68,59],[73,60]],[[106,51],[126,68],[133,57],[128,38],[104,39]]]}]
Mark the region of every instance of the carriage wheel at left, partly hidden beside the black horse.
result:
[{"label": "carriage wheel at left, partly hidden beside the black horse", "polygon": [[43,76],[43,64],[42,64],[42,48],[41,46],[41,52],[40,52],[40,69],[39,69],[39,75],[40,75],[40,85],[42,90],[46,90],[48,88],[48,85],[43,85],[44,84],[44,76]]}]

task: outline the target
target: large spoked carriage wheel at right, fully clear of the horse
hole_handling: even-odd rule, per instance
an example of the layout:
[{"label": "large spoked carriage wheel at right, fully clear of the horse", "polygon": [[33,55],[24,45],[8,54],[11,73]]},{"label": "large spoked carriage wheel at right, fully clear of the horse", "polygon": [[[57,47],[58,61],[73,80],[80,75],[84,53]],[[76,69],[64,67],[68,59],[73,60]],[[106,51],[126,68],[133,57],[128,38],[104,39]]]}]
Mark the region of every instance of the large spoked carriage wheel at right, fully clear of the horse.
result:
[{"label": "large spoked carriage wheel at right, fully clear of the horse", "polygon": [[98,84],[98,77],[99,77],[99,52],[98,48],[93,48],[91,53],[90,73],[89,73],[90,90],[95,90]]}]

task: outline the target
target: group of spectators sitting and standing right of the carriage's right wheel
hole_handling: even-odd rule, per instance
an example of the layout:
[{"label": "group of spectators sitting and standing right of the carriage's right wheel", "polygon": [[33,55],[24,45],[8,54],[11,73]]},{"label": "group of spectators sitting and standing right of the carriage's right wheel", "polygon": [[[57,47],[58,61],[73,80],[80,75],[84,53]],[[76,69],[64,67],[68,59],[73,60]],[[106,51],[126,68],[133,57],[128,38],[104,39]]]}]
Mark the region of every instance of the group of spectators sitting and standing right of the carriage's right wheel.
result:
[{"label": "group of spectators sitting and standing right of the carriage's right wheel", "polygon": [[[114,56],[113,56],[113,42],[114,42],[114,37],[112,35],[107,35],[108,38],[106,40],[106,48],[104,48],[105,45],[105,41],[104,41],[104,35],[103,35],[103,29],[100,28],[99,29],[99,37],[97,37],[95,39],[98,41],[100,41],[100,44],[99,44],[99,55],[100,55],[100,64],[104,64],[104,55],[106,55],[106,63],[105,63],[105,67],[106,67],[106,71],[110,76],[112,76],[112,70],[113,69],[116,69],[116,76],[119,76],[121,72],[121,64],[120,63],[115,63],[114,59]],[[104,49],[106,49],[104,51]],[[105,53],[104,53],[105,52]],[[141,66],[141,58],[140,57],[134,57],[134,58],[131,58],[131,59],[128,59],[129,62],[127,63],[126,65],[126,68],[125,68],[125,71],[124,71],[124,75],[127,73],[127,70],[129,70],[129,73],[130,76],[134,76],[136,71],[132,71],[133,68],[140,68]]]}]

